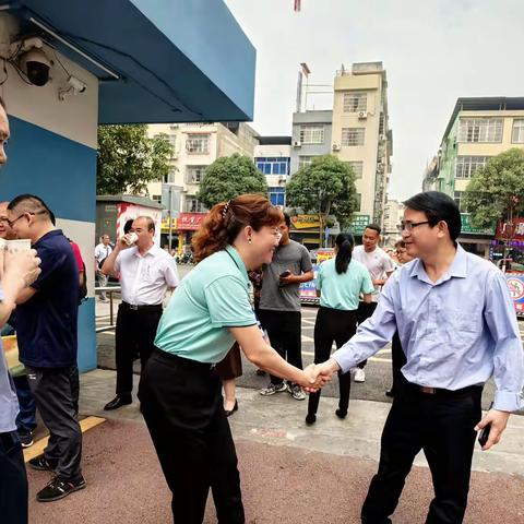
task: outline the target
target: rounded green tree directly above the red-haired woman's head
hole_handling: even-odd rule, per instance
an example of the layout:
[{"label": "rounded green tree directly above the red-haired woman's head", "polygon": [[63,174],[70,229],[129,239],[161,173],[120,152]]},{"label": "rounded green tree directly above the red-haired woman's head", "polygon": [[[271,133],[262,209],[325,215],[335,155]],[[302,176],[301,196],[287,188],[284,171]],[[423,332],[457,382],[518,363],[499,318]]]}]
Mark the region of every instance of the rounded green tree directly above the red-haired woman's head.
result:
[{"label": "rounded green tree directly above the red-haired woman's head", "polygon": [[267,194],[265,177],[248,156],[217,158],[205,170],[196,198],[209,209],[243,193]]}]

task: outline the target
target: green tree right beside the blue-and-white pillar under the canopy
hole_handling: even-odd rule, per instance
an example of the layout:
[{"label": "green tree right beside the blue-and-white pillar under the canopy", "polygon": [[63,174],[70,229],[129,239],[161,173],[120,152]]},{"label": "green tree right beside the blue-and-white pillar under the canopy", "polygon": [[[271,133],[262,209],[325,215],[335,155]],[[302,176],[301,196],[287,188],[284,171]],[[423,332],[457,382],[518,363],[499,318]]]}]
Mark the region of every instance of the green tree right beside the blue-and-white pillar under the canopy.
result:
[{"label": "green tree right beside the blue-and-white pillar under the canopy", "polygon": [[167,134],[147,136],[146,124],[99,126],[97,194],[139,194],[169,171],[172,146]]}]

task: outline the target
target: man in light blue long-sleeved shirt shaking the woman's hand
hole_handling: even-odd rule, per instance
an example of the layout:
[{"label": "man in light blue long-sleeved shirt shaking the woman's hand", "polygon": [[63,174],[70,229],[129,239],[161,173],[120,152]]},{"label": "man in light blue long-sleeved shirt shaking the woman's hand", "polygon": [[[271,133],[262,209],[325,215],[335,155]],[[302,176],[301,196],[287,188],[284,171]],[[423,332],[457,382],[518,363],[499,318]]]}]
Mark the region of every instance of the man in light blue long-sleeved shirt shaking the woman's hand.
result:
[{"label": "man in light blue long-sleeved shirt shaking the woman's hand", "polygon": [[[398,330],[407,362],[361,520],[391,523],[415,455],[424,450],[434,488],[426,524],[460,524],[476,431],[490,425],[483,446],[489,450],[510,414],[524,406],[523,347],[503,274],[456,243],[461,214],[454,201],[428,191],[405,205],[400,229],[407,253],[417,260],[393,274],[373,315],[320,371],[349,370]],[[483,385],[490,377],[497,392],[483,418]]]}]

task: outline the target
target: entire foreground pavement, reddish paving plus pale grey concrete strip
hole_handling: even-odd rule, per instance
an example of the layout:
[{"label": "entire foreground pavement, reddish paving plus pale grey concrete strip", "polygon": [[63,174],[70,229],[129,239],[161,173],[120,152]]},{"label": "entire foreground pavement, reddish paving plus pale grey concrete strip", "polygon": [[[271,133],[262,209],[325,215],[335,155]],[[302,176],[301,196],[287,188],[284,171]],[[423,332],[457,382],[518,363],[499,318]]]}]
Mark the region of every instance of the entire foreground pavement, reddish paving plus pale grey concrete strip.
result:
[{"label": "entire foreground pavement, reddish paving plus pale grey concrete strip", "polygon": [[[44,524],[163,524],[172,522],[170,493],[150,436],[133,403],[104,412],[115,372],[81,377],[81,413],[107,420],[87,431],[83,472],[87,488],[53,503],[35,495],[49,475],[28,469],[29,522]],[[138,377],[135,377],[135,385]],[[322,398],[318,422],[303,422],[307,405],[287,393],[262,397],[238,389],[230,417],[242,483],[247,524],[358,524],[360,507],[377,471],[389,404],[352,401],[346,420],[335,417],[335,398]],[[465,524],[524,522],[524,417],[511,418],[496,451],[475,453]],[[31,450],[31,448],[29,448]],[[425,522],[432,498],[422,457],[409,474],[394,524]],[[204,524],[216,523],[210,496]],[[183,523],[181,523],[183,524]]]}]

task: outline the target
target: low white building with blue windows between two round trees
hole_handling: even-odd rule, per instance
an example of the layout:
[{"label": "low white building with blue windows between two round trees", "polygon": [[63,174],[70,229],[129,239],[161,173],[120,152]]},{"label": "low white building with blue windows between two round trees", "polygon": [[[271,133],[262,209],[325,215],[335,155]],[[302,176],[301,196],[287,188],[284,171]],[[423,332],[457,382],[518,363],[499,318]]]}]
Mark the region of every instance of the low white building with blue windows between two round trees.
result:
[{"label": "low white building with blue windows between two round trees", "polygon": [[254,164],[265,175],[271,203],[281,207],[286,205],[290,157],[291,136],[260,136],[254,146]]}]

